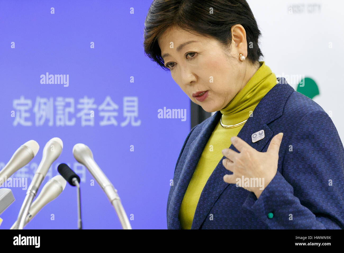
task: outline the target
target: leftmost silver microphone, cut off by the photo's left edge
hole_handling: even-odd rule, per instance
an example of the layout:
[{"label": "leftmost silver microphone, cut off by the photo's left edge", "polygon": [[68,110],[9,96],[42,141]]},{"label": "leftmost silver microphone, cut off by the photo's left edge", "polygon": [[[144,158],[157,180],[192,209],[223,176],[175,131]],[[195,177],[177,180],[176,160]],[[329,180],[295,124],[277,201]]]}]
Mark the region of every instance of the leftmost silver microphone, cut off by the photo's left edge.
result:
[{"label": "leftmost silver microphone, cut off by the photo's left edge", "polygon": [[0,186],[11,177],[14,172],[28,164],[36,155],[40,146],[35,140],[26,141],[12,155],[9,162],[0,171]]}]

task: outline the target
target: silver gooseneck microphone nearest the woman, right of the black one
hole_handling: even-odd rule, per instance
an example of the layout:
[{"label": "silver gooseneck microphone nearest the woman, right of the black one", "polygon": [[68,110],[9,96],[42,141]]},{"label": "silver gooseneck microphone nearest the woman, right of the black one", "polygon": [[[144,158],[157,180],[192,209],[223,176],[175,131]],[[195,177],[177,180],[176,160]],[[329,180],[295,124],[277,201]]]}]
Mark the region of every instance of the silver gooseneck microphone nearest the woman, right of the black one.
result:
[{"label": "silver gooseneck microphone nearest the woman, right of the black one", "polygon": [[127,214],[124,211],[121,200],[117,194],[117,190],[93,159],[93,154],[89,147],[82,143],[75,144],[73,147],[73,155],[80,164],[84,165],[88,169],[100,185],[101,189],[103,189],[112,206],[115,208],[123,229],[131,229]]}]

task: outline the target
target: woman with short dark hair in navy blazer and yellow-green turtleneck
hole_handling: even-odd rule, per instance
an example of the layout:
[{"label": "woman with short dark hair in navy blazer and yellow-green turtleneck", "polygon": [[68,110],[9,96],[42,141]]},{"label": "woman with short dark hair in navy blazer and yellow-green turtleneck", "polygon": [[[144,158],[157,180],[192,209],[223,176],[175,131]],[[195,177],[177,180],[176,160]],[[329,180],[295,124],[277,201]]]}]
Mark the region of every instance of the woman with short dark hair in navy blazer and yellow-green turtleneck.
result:
[{"label": "woman with short dark hair in navy blazer and yellow-green turtleneck", "polygon": [[168,229],[344,228],[342,141],[318,104],[259,61],[259,36],[245,0],[149,9],[145,53],[216,112],[186,137]]}]

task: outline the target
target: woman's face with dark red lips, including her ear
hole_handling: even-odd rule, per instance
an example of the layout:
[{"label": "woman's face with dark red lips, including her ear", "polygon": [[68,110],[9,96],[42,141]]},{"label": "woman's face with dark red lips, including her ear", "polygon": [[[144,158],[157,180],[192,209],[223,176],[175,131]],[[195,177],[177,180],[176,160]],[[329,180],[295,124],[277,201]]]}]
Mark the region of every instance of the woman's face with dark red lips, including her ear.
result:
[{"label": "woman's face with dark red lips, including her ear", "polygon": [[[239,59],[240,53],[247,56],[246,32],[241,25],[232,27],[231,49],[225,51],[233,59],[216,40],[175,27],[166,30],[158,44],[173,80],[206,112],[226,107],[259,68],[259,64],[252,66]],[[201,98],[193,96],[204,91],[207,94]]]}]

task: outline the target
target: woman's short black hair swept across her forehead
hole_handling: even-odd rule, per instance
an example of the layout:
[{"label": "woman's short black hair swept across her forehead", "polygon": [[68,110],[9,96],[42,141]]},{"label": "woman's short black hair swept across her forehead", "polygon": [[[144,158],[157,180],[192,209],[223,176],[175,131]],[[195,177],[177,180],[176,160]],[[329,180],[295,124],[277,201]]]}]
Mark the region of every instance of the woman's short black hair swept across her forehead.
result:
[{"label": "woman's short black hair swept across her forehead", "polygon": [[232,42],[231,28],[235,24],[241,24],[246,31],[246,59],[252,65],[257,64],[263,56],[258,45],[261,33],[245,0],[154,0],[144,22],[144,53],[164,70],[169,70],[158,44],[158,38],[166,29],[175,26],[196,32],[217,40],[228,49]]}]

